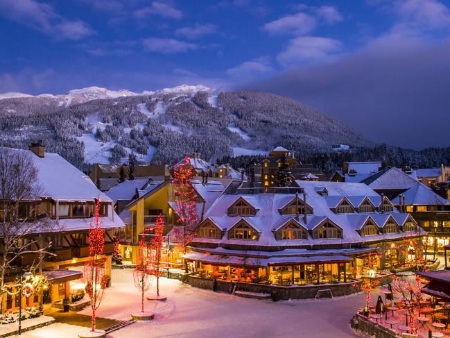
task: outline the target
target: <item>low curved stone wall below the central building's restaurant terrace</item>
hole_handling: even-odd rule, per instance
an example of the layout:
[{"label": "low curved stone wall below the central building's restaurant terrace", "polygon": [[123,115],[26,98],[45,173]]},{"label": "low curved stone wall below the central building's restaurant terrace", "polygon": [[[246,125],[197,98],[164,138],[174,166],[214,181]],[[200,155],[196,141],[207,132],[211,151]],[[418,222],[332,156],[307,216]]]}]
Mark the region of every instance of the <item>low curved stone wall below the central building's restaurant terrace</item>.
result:
[{"label": "low curved stone wall below the central building's restaurant terrace", "polygon": [[[200,287],[202,289],[212,290],[214,287],[214,280],[210,278],[202,278],[198,276],[189,276],[189,285],[193,287]],[[279,299],[287,300],[315,298],[318,290],[330,289],[334,297],[345,296],[347,294],[354,294],[361,291],[361,281],[354,281],[348,283],[338,284],[322,284],[322,285],[293,285],[289,287],[282,287],[278,285],[264,285],[252,284],[243,282],[229,282],[226,280],[216,280],[216,291],[223,291],[232,294],[233,291],[250,291],[265,294],[272,294],[276,292]]]}]

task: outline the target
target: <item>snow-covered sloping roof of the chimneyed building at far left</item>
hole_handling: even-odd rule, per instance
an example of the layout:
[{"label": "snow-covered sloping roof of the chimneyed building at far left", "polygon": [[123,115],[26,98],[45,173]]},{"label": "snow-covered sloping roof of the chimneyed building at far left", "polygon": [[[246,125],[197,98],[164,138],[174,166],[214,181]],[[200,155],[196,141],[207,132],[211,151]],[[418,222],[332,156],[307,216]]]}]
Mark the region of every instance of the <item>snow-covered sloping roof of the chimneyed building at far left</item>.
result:
[{"label": "snow-covered sloping roof of the chimneyed building at far left", "polygon": [[59,201],[112,201],[110,197],[97,189],[89,176],[55,153],[45,153],[41,158],[32,151],[8,149],[15,153],[26,153],[37,169],[38,183],[42,187],[42,196]]}]

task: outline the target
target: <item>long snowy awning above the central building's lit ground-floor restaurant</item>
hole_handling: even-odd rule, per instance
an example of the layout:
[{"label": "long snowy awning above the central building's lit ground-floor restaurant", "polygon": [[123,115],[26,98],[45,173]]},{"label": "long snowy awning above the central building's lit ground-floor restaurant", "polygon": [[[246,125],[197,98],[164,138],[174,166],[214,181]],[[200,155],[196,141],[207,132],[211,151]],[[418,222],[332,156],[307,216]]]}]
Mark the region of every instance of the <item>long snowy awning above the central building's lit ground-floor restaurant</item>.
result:
[{"label": "long snowy awning above the central building's lit ground-floor restaurant", "polygon": [[232,266],[248,266],[248,267],[269,267],[279,265],[296,265],[296,264],[329,264],[351,262],[352,258],[343,255],[324,255],[324,256],[300,256],[300,257],[240,257],[232,255],[214,255],[210,253],[191,252],[183,255],[186,260],[202,262],[213,265],[232,265]]}]

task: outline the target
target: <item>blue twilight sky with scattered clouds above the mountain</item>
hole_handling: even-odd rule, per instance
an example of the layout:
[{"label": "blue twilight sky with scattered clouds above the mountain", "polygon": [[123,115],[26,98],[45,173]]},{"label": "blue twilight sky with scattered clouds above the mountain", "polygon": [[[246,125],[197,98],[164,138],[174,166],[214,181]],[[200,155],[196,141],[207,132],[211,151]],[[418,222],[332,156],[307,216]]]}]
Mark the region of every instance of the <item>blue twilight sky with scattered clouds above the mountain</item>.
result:
[{"label": "blue twilight sky with scattered clouds above the mountain", "polygon": [[450,0],[0,0],[0,92],[202,84],[450,146]]}]

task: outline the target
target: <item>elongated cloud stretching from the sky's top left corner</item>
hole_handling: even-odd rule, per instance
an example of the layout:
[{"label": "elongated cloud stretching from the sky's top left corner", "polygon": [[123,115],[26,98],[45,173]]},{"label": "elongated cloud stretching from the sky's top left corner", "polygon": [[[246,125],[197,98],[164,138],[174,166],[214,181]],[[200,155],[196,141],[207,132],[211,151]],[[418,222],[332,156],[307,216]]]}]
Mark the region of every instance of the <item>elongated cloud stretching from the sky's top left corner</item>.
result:
[{"label": "elongated cloud stretching from the sky's top left corner", "polygon": [[95,31],[80,20],[68,20],[46,3],[33,0],[1,0],[0,15],[55,38],[78,40]]}]

